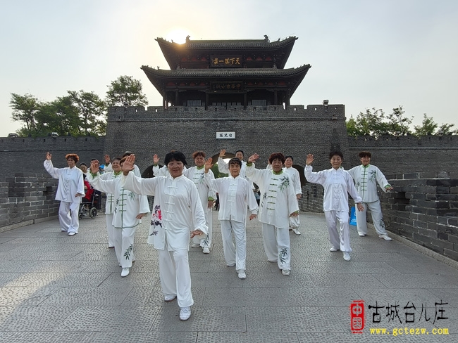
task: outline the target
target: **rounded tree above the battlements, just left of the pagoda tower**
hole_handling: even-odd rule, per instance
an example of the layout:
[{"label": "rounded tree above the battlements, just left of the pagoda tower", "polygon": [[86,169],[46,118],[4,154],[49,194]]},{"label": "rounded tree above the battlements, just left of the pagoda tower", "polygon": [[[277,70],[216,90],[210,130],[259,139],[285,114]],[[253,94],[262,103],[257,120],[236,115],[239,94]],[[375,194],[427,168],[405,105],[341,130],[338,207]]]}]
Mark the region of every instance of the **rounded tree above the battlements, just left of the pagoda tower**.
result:
[{"label": "rounded tree above the battlements, just left of the pagoda tower", "polygon": [[120,76],[111,82],[106,92],[106,103],[109,106],[146,106],[147,96],[142,93],[142,83],[131,76]]}]

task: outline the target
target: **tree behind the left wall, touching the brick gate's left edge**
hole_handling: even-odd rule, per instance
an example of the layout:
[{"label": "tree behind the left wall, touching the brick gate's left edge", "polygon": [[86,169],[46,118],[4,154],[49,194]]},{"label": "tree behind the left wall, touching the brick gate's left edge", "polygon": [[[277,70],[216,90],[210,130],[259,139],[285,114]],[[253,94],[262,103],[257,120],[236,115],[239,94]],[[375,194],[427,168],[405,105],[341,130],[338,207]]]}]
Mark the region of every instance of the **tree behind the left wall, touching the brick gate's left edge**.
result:
[{"label": "tree behind the left wall, touching the brick gate's left edge", "polygon": [[106,104],[94,92],[68,91],[68,96],[80,119],[78,134],[104,135],[106,131]]}]

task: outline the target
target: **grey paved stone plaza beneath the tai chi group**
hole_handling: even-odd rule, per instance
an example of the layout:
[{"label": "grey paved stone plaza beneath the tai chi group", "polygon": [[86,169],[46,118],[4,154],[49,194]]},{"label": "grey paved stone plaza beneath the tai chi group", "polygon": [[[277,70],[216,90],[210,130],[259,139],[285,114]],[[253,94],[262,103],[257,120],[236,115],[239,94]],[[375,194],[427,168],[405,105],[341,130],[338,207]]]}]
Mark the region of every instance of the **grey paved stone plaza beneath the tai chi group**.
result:
[{"label": "grey paved stone plaza beneath the tai chi group", "polygon": [[[194,306],[186,322],[176,301],[163,302],[148,221],[137,230],[126,278],[108,249],[103,213],[82,219],[73,237],[60,232],[57,219],[0,233],[0,342],[458,342],[453,266],[375,231],[359,238],[354,226],[346,262],[329,252],[323,214],[302,214],[302,235],[290,233],[291,275],[267,261],[254,220],[247,226],[247,278],[240,280],[225,266],[217,216],[211,253],[190,249]],[[351,333],[355,300],[365,304],[362,334]],[[383,306],[380,323],[368,306]],[[406,335],[405,328],[428,335]],[[449,335],[433,335],[443,328]]]}]

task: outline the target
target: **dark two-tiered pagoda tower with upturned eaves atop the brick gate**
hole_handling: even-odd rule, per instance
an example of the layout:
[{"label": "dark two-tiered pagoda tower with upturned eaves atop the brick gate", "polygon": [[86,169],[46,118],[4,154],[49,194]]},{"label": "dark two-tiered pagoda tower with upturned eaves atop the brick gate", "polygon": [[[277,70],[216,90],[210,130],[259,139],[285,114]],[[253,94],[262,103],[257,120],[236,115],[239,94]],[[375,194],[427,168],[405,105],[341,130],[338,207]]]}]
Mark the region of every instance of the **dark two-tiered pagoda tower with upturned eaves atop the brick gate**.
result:
[{"label": "dark two-tiered pagoda tower with upturned eaves atop the brick gate", "polygon": [[158,38],[171,70],[142,66],[171,106],[290,105],[290,98],[310,65],[284,69],[297,37],[193,41],[185,44]]}]

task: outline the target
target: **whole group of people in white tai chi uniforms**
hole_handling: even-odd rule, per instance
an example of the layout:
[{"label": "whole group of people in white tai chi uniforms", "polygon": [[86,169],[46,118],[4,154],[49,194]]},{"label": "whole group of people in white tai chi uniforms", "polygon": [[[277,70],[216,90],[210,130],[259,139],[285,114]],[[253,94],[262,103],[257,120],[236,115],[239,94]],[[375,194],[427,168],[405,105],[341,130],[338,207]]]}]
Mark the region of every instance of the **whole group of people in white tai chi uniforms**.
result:
[{"label": "whole group of people in white tai chi uniforms", "polygon": [[[219,199],[218,220],[225,263],[235,266],[240,279],[247,278],[246,223],[256,216],[262,224],[264,251],[268,261],[277,263],[284,276],[291,271],[289,231],[300,235],[299,204],[302,188],[299,172],[292,167],[293,157],[273,153],[268,157],[266,169],[256,169],[259,155],[244,160],[242,150],[228,162],[225,150],[218,158],[218,171],[227,177],[215,179],[211,167],[213,160],[206,159],[204,151],[192,154],[194,167],[186,168],[183,153],[172,151],[159,167],[159,156],[154,155],[154,178],[142,179],[135,164],[135,155],[126,152],[123,157],[105,156],[104,173],[98,160],[92,160],[89,169],[78,169],[79,157],[66,155],[68,167],[55,168],[51,154],[47,153],[44,168],[58,179],[56,200],[60,200],[58,218],[61,231],[73,236],[78,233],[78,209],[85,196],[83,173],[94,189],[106,193],[106,229],[108,245],[114,247],[120,276],[130,273],[135,261],[135,230],[142,218],[151,212],[148,242],[159,252],[159,274],[165,302],[177,299],[180,320],[190,318],[191,276],[188,250],[202,248],[209,254],[212,247],[211,213],[216,194]],[[349,242],[349,202],[351,195],[357,207],[357,230],[361,237],[367,235],[366,210],[370,209],[373,225],[380,238],[391,240],[385,229],[377,195],[377,184],[383,191],[392,187],[380,169],[370,164],[371,153],[359,154],[361,165],[346,171],[342,168],[343,155],[330,153],[330,169],[314,172],[311,164],[314,155],[307,155],[304,175],[307,181],[319,183],[324,188],[323,211],[330,238],[330,252],[340,250],[343,259],[350,261],[352,248]],[[257,188],[254,187],[254,184]],[[256,202],[254,190],[259,190]],[[150,211],[147,195],[154,196]],[[259,205],[258,205],[259,204]],[[250,212],[247,216],[247,212]]]}]

